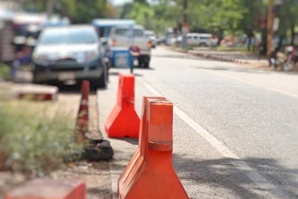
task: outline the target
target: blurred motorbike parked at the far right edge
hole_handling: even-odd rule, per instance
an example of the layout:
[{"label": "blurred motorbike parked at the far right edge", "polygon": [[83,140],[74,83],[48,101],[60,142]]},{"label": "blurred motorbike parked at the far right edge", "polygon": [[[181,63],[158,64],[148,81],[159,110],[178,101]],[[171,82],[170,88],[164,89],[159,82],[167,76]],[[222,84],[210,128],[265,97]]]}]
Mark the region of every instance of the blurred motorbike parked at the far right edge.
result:
[{"label": "blurred motorbike parked at the far right edge", "polygon": [[282,71],[293,71],[298,61],[298,53],[295,46],[285,47],[285,53],[273,52],[270,58],[270,67],[281,67]]}]

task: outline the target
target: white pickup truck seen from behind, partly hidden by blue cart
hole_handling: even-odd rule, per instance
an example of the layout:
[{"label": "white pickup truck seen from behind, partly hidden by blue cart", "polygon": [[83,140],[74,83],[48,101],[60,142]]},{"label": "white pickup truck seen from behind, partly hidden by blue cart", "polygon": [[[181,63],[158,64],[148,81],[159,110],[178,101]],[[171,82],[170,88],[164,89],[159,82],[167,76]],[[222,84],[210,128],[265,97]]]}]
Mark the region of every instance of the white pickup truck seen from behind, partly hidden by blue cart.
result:
[{"label": "white pickup truck seen from behind, partly hidden by blue cart", "polygon": [[[131,30],[134,31],[131,31]],[[113,52],[125,50],[132,45],[140,48],[139,67],[149,68],[152,43],[145,34],[145,29],[141,25],[117,26],[113,27],[108,36],[108,48],[111,52],[110,58],[113,58]]]}]

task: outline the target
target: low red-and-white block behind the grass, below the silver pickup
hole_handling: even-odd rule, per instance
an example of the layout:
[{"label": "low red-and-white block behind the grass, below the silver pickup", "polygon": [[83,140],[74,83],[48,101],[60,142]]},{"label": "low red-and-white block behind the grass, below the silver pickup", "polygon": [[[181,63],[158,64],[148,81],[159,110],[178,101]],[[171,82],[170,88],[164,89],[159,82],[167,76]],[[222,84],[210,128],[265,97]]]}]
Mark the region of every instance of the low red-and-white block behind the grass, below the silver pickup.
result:
[{"label": "low red-and-white block behind the grass, below the silver pickup", "polygon": [[17,98],[23,100],[58,100],[59,89],[55,87],[47,92],[18,92]]}]

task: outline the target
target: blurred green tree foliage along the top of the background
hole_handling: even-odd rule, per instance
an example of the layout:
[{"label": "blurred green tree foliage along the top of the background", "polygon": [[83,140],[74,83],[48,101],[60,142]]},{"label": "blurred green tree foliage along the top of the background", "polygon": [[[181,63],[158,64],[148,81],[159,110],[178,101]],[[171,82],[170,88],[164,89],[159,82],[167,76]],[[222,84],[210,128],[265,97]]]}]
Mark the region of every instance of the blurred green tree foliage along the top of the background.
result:
[{"label": "blurred green tree foliage along the top of the background", "polygon": [[[27,9],[46,10],[45,1],[27,0]],[[210,32],[223,38],[224,33],[246,34],[264,32],[259,21],[268,13],[269,0],[134,0],[114,7],[109,0],[56,0],[60,6],[54,11],[68,16],[73,23],[89,23],[93,18],[133,18],[147,29],[164,33],[169,27],[181,28],[183,15],[188,15],[191,31]],[[278,34],[286,36],[295,33],[298,25],[298,0],[284,0],[279,11]]]}]

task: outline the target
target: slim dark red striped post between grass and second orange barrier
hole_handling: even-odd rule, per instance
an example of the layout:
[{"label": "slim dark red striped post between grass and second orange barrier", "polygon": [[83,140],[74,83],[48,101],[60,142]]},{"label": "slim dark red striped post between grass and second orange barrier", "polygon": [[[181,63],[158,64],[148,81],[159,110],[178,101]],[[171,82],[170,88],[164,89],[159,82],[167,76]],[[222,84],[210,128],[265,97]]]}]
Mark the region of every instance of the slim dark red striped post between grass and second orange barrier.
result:
[{"label": "slim dark red striped post between grass and second orange barrier", "polygon": [[76,129],[81,134],[83,139],[86,139],[88,132],[88,97],[90,93],[90,82],[84,80],[81,85],[81,101],[77,113]]}]

